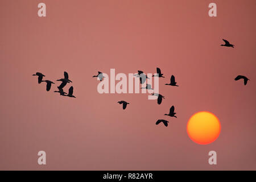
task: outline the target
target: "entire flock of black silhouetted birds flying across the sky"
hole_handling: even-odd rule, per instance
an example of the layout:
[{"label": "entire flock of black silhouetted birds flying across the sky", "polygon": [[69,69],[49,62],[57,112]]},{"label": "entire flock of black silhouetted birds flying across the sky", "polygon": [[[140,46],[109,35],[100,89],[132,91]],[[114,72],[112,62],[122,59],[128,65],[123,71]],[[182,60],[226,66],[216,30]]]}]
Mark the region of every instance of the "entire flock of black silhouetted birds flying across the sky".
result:
[{"label": "entire flock of black silhouetted birds flying across the sky", "polygon": [[[225,40],[225,39],[222,39],[225,44],[221,44],[221,46],[225,46],[225,47],[232,47],[234,48],[234,45],[233,44],[230,44],[228,42],[228,40]],[[156,68],[156,75],[153,75],[152,77],[154,76],[157,76],[157,77],[162,77],[164,78],[163,76],[163,73],[161,72],[160,68]],[[54,82],[50,81],[50,80],[43,80],[43,77],[45,77],[42,73],[39,73],[39,72],[36,72],[36,74],[32,75],[32,76],[38,76],[38,84],[40,84],[41,82],[46,82],[47,85],[46,85],[46,90],[49,91],[51,89],[51,85],[52,84],[55,84]],[[139,77],[139,81],[141,84],[144,84],[144,82],[146,81],[146,79],[150,79],[147,77],[147,75],[145,75],[143,73],[143,71],[138,71],[137,74],[134,75],[135,77]],[[93,77],[97,77],[99,78],[100,81],[103,80],[103,78],[105,78],[103,76],[103,73],[102,72],[98,72],[98,75],[94,75]],[[240,80],[240,79],[243,79],[243,83],[244,85],[247,84],[247,81],[249,80],[249,78],[247,78],[246,76],[243,76],[243,75],[238,75],[236,78],[234,78],[234,80]],[[71,86],[69,89],[68,89],[68,94],[66,92],[64,92],[63,88],[64,86],[67,85],[67,83],[70,83],[72,82],[71,80],[69,80],[68,78],[68,73],[67,72],[64,72],[64,78],[61,78],[59,80],[56,80],[56,81],[61,81],[61,84],[60,86],[57,86],[57,88],[59,90],[57,91],[54,91],[54,92],[57,92],[57,93],[60,93],[60,96],[67,96],[67,97],[74,97],[76,98],[75,96],[73,96],[73,86]],[[165,84],[165,85],[170,85],[170,86],[179,86],[177,85],[177,82],[175,81],[175,76],[172,75],[171,78],[170,78],[170,84]],[[154,90],[150,84],[146,84],[146,87],[142,87],[141,89],[148,89],[148,90]],[[162,103],[162,100],[164,98],[164,96],[162,96],[161,94],[159,93],[152,93],[152,96],[157,96],[158,97],[158,101],[157,103],[160,105]],[[126,102],[126,101],[118,101],[117,102],[118,104],[122,104],[123,106],[123,109],[126,109],[127,105],[130,104],[129,102]],[[170,111],[169,111],[169,114],[164,114],[164,115],[167,115],[169,117],[176,117],[176,113],[175,113],[175,107],[174,106],[171,106],[170,107]],[[168,121],[165,120],[165,119],[158,119],[158,121],[156,121],[156,125],[159,125],[159,123],[163,122],[164,126],[168,126]]]}]

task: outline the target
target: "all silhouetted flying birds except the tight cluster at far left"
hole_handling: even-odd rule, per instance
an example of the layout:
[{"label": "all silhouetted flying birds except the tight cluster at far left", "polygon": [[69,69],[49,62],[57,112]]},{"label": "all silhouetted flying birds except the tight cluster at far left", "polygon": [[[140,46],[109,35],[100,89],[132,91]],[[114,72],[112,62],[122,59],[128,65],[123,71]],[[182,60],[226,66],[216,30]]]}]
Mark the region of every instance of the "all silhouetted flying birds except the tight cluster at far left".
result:
[{"label": "all silhouetted flying birds except the tight cluster at far left", "polygon": [[[222,40],[225,42],[225,44],[221,44],[221,46],[234,48],[234,45],[233,45],[233,44],[230,44],[230,43],[228,42],[228,40],[225,40],[225,39],[222,39]],[[161,72],[160,68],[156,68],[156,73],[157,73],[157,74],[156,74],[156,75],[153,75],[152,77],[157,76],[157,77],[159,77],[159,78],[160,78],[160,77],[164,78],[163,73]],[[139,81],[140,81],[141,84],[144,84],[144,82],[146,81],[146,79],[150,79],[150,78],[148,78],[148,77],[143,73],[143,71],[138,71],[138,73],[135,74],[134,76],[139,77]],[[102,72],[98,72],[98,75],[94,75],[93,77],[98,77],[100,81],[102,81],[103,78],[104,78]],[[247,84],[247,81],[249,80],[249,78],[247,78],[246,76],[242,76],[242,75],[238,75],[236,78],[234,78],[234,80],[236,80],[236,81],[237,81],[237,80],[240,80],[240,79],[243,79],[244,85],[246,85],[246,84]],[[174,75],[172,75],[171,78],[170,78],[170,84],[165,84],[165,85],[179,86],[179,85],[177,85],[177,82],[175,81],[175,76],[174,76]],[[142,87],[141,89],[154,90],[154,89],[151,87],[150,84],[146,84],[146,87]],[[159,105],[162,103],[162,100],[163,100],[164,96],[162,96],[162,95],[159,94],[159,93],[152,93],[152,96],[157,96],[157,97],[158,97],[158,101],[157,101],[157,102],[158,102]],[[118,104],[122,104],[123,109],[126,109],[127,105],[130,104],[129,102],[126,102],[126,101],[118,101],[117,103],[118,103]],[[175,117],[175,118],[177,118],[176,115],[175,115],[176,113],[175,113],[174,110],[175,110],[175,107],[174,107],[174,106],[171,106],[171,107],[170,107],[169,114],[164,114],[164,115],[167,115],[167,116],[169,116],[169,117]],[[158,119],[158,121],[156,121],[156,125],[159,125],[159,123],[161,123],[161,122],[164,124],[164,126],[166,126],[166,127],[168,126],[168,121],[165,120],[165,119]]]}]

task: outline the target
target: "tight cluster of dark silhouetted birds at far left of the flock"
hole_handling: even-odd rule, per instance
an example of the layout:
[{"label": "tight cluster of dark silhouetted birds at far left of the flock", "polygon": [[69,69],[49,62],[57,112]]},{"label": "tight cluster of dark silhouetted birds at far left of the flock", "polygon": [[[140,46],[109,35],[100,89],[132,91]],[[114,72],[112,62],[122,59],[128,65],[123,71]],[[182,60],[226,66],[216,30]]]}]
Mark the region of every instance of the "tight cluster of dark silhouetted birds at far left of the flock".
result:
[{"label": "tight cluster of dark silhouetted birds at far left of the flock", "polygon": [[[38,84],[40,84],[41,82],[46,82],[46,90],[49,91],[51,89],[52,84],[55,84],[54,82],[50,81],[50,80],[43,80],[43,77],[45,77],[42,73],[36,72],[34,75],[32,76],[38,76]],[[59,80],[56,81],[61,81],[60,86],[57,86],[57,88],[59,90],[54,91],[54,92],[58,92],[60,93],[60,96],[67,96],[67,97],[74,97],[73,96],[73,86],[69,87],[68,89],[68,94],[66,92],[63,91],[64,86],[67,85],[67,83],[72,82],[71,80],[68,79],[68,73],[64,72],[64,78],[60,78]]]}]

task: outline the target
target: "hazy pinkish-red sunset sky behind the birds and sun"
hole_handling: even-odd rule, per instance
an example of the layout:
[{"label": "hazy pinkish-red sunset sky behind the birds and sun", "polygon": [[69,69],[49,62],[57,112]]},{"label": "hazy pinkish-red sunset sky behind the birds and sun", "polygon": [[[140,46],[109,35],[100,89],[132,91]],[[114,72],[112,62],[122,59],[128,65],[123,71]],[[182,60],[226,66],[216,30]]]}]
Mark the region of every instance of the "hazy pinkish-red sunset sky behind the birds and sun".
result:
[{"label": "hazy pinkish-red sunset sky behind the birds and sun", "polygon": [[[210,2],[217,17],[208,16]],[[254,0],[1,0],[0,169],[256,170],[255,8]],[[222,38],[235,48],[220,46]],[[99,94],[92,77],[156,67],[166,77],[161,105],[147,94]],[[77,98],[53,93],[64,71],[73,81],[64,90],[72,85]],[[55,82],[49,92],[35,72]],[[164,85],[171,75],[179,87]],[[122,110],[120,100],[131,104]],[[172,105],[177,118],[164,116]],[[186,131],[203,110],[221,123],[208,145]],[[37,163],[40,150],[46,166]]]}]

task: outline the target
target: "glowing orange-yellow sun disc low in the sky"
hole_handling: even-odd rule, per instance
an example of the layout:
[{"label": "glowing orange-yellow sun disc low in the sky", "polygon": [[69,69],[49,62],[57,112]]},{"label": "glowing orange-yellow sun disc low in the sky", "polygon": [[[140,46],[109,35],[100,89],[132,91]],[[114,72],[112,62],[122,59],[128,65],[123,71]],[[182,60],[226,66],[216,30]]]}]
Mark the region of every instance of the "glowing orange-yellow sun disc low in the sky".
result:
[{"label": "glowing orange-yellow sun disc low in the sky", "polygon": [[208,111],[193,114],[187,123],[188,137],[198,144],[214,142],[220,135],[221,125],[216,115]]}]

